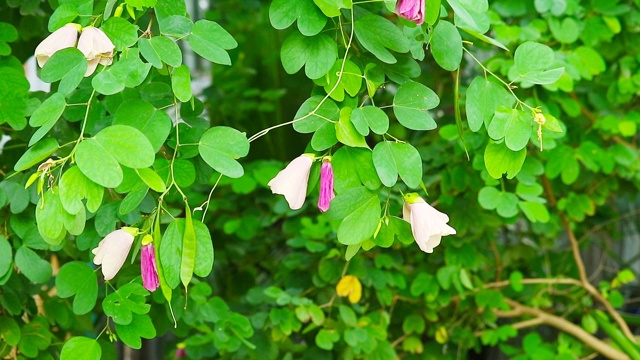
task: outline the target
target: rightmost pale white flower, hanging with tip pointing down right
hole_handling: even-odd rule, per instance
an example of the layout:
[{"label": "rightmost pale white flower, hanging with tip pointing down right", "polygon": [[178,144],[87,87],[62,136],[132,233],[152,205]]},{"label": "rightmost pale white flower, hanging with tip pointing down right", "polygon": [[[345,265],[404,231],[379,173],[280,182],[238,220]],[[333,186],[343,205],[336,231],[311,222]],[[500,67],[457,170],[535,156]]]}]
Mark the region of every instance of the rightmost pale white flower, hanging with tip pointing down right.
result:
[{"label": "rightmost pale white flower, hanging with tip pointing down right", "polygon": [[432,253],[433,248],[440,245],[443,236],[453,235],[456,230],[447,225],[449,217],[427,204],[416,193],[404,195],[402,215],[411,224],[413,239],[420,246],[420,250]]}]

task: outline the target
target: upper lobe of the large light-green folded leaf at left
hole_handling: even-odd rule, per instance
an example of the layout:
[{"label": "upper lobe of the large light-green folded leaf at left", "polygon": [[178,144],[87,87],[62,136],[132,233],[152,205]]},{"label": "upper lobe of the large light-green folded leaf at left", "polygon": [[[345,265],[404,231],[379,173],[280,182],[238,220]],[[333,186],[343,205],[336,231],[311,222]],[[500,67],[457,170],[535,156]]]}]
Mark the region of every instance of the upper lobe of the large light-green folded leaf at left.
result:
[{"label": "upper lobe of the large light-green folded leaf at left", "polygon": [[153,165],[153,147],[147,137],[134,127],[111,125],[100,130],[94,139],[126,167],[136,169]]}]

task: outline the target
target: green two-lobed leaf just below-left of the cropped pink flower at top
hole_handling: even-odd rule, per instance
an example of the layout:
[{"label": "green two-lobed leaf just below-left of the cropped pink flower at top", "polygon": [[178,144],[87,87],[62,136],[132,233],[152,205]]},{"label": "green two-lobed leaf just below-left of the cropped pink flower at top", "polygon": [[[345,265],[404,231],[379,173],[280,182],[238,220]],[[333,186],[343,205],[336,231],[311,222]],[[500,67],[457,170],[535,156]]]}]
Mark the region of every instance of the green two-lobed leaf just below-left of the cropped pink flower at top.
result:
[{"label": "green two-lobed leaf just below-left of the cropped pink flower at top", "polygon": [[402,31],[382,16],[367,14],[356,20],[354,26],[362,46],[382,62],[396,63],[395,56],[389,50],[406,53],[410,49],[409,40]]}]

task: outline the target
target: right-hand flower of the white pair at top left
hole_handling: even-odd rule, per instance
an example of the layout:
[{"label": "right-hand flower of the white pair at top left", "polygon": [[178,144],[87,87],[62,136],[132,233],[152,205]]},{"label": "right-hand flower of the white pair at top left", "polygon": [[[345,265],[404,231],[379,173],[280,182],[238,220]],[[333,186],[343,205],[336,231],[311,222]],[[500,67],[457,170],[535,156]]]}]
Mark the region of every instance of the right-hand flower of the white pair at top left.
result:
[{"label": "right-hand flower of the white pair at top left", "polygon": [[113,50],[115,45],[107,37],[104,31],[93,26],[82,29],[80,40],[78,40],[78,50],[82,51],[84,57],[89,61],[85,77],[91,76],[98,64],[107,66],[113,62]]}]

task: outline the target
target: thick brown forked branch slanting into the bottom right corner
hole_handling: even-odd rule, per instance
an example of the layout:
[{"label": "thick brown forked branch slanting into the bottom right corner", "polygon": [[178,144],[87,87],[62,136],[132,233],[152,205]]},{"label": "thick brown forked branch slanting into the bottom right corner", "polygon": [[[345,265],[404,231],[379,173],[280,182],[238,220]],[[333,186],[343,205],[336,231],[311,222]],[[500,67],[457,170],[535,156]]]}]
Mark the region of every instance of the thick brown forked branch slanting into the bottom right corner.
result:
[{"label": "thick brown forked branch slanting into the bottom right corner", "polygon": [[583,328],[579,327],[578,325],[568,320],[565,320],[556,315],[548,314],[540,309],[522,305],[509,298],[504,298],[504,301],[507,304],[509,304],[509,306],[511,306],[512,310],[511,311],[495,311],[496,315],[500,317],[515,317],[515,316],[523,316],[523,315],[533,317],[533,319],[528,320],[528,322],[523,321],[523,322],[514,324],[514,325],[520,324],[519,325],[520,328],[526,327],[526,326],[533,326],[531,324],[533,324],[535,320],[535,323],[537,324],[546,324],[558,330],[564,331],[569,335],[572,335],[576,339],[580,340],[587,346],[591,347],[593,350],[599,352],[601,355],[609,359],[617,359],[617,360],[629,359],[629,356],[627,356],[625,353],[621,352],[620,350],[614,347],[609,346],[604,341],[589,334]]}]

